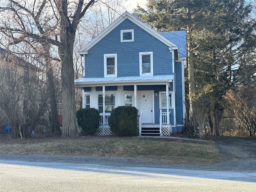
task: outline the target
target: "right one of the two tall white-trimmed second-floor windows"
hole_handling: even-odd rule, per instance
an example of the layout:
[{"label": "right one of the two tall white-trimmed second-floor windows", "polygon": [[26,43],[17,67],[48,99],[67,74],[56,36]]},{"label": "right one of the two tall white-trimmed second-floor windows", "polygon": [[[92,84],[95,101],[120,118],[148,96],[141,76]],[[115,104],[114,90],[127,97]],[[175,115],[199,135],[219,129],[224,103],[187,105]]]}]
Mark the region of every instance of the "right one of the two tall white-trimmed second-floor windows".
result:
[{"label": "right one of the two tall white-trimmed second-floor windows", "polygon": [[140,52],[140,75],[153,75],[153,52]]}]

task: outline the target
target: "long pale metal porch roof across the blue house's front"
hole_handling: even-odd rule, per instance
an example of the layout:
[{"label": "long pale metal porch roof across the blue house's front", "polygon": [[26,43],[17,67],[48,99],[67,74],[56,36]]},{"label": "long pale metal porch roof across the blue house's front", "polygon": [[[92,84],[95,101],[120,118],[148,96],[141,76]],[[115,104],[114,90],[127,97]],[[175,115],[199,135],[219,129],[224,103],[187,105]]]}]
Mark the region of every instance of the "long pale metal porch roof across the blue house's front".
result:
[{"label": "long pale metal porch roof across the blue house's front", "polygon": [[172,82],[173,78],[174,75],[80,78],[75,80],[75,86],[82,88],[102,85],[166,85]]}]

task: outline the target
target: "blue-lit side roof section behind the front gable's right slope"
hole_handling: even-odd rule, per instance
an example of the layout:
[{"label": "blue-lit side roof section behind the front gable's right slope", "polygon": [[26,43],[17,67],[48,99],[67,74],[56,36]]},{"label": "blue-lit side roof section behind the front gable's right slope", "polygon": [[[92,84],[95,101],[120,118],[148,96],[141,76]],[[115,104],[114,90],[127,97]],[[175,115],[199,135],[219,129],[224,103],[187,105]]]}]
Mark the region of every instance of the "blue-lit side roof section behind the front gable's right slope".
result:
[{"label": "blue-lit side roof section behind the front gable's right slope", "polygon": [[160,32],[160,34],[178,45],[179,58],[187,57],[186,31]]}]

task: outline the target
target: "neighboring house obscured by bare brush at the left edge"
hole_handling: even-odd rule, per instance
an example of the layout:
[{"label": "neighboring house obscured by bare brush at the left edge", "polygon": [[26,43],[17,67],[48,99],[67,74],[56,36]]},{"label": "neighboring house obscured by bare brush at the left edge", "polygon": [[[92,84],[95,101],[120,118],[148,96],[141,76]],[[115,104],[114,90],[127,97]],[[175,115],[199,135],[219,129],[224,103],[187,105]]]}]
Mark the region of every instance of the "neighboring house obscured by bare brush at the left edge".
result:
[{"label": "neighboring house obscured by bare brush at the left edge", "polygon": [[[12,114],[11,110],[26,110],[28,99],[24,97],[26,94],[21,94],[30,94],[26,88],[35,87],[34,80],[38,71],[36,66],[0,48],[0,126],[8,122],[10,116],[7,114]],[[14,118],[14,114],[11,116]]]}]

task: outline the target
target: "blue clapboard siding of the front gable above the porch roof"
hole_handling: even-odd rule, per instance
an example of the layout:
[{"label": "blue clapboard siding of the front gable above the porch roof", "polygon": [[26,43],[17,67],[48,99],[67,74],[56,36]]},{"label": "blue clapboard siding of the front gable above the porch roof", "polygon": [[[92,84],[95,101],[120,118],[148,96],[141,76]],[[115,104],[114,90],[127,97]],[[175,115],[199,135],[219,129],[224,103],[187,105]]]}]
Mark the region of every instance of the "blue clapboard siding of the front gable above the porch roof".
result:
[{"label": "blue clapboard siding of the front gable above the porch roof", "polygon": [[[120,30],[125,29],[134,29],[134,42],[120,42]],[[154,75],[172,74],[168,46],[126,19],[88,50],[84,78],[104,77],[104,54],[117,54],[118,77],[140,76],[139,52],[153,52]]]}]

